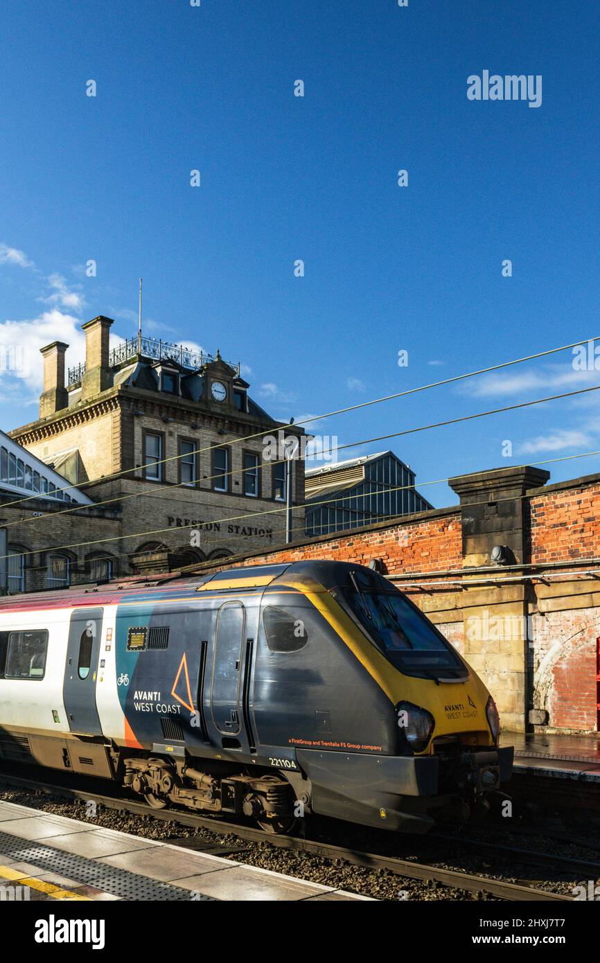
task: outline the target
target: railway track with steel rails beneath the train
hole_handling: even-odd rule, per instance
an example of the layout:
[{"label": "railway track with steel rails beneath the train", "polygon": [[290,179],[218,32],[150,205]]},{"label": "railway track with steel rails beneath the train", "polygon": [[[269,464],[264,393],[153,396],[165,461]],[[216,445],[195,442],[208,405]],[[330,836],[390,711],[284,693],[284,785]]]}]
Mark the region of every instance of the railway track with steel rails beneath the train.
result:
[{"label": "railway track with steel rails beneath the train", "polygon": [[[571,900],[571,897],[554,893],[550,890],[538,889],[533,885],[525,884],[522,881],[506,882],[490,878],[486,875],[476,875],[458,870],[444,869],[439,866],[432,866],[428,863],[419,863],[412,859],[400,859],[396,856],[388,856],[375,852],[364,852],[348,846],[336,846],[318,840],[307,839],[302,836],[274,835],[262,829],[246,826],[237,822],[228,822],[216,817],[199,816],[176,809],[155,810],[142,802],[124,798],[117,795],[100,794],[95,790],[75,789],[70,786],[56,785],[47,782],[40,782],[39,778],[29,779],[13,774],[5,774],[0,770],[0,782],[6,786],[25,790],[35,790],[49,795],[61,796],[66,799],[81,799],[83,801],[93,801],[97,805],[108,809],[127,812],[132,815],[166,822],[175,821],[180,825],[191,828],[208,829],[216,835],[232,836],[248,843],[269,844],[294,851],[301,851],[314,856],[320,856],[332,862],[349,863],[353,866],[363,867],[371,870],[385,870],[393,872],[399,877],[415,879],[421,881],[434,880],[442,886],[451,887],[458,890],[489,894],[492,897],[517,900],[517,901],[564,901]],[[586,860],[573,859],[571,857],[556,856],[550,853],[540,853],[529,849],[518,849],[511,846],[500,846],[497,844],[480,843],[476,840],[467,840],[455,836],[433,835],[424,838],[428,843],[439,842],[445,846],[463,846],[476,851],[478,854],[496,857],[502,861],[511,861],[518,865],[530,866],[552,866],[553,870],[563,870],[564,872],[577,872],[578,878],[595,879],[600,876],[600,863],[587,862]],[[195,841],[190,838],[177,838],[169,842],[179,846],[190,846],[198,851],[215,851],[216,846],[212,846],[206,841]],[[219,851],[223,854],[235,854],[243,851],[243,846],[231,846],[226,850],[219,846]]]}]

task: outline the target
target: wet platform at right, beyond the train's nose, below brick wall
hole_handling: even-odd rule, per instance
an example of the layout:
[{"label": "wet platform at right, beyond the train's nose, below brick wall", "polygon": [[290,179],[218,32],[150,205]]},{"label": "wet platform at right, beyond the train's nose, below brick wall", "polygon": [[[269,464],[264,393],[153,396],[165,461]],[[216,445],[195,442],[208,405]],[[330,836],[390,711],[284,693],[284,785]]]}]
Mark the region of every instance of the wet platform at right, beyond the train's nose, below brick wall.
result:
[{"label": "wet platform at right, beyond the train's nose, below brick wall", "polygon": [[600,735],[561,736],[506,732],[514,746],[515,775],[576,780],[600,785]]}]

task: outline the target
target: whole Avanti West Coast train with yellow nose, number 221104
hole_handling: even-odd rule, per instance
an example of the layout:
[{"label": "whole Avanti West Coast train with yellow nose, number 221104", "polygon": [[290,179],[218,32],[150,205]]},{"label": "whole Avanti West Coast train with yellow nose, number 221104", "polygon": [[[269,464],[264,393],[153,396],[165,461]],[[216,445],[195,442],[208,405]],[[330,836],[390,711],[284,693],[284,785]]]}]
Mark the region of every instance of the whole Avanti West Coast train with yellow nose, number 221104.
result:
[{"label": "whole Avanti West Coast train with yellow nose, number 221104", "polygon": [[0,761],[148,806],[402,832],[502,796],[512,748],[457,650],[378,571],[301,560],[0,600]]}]

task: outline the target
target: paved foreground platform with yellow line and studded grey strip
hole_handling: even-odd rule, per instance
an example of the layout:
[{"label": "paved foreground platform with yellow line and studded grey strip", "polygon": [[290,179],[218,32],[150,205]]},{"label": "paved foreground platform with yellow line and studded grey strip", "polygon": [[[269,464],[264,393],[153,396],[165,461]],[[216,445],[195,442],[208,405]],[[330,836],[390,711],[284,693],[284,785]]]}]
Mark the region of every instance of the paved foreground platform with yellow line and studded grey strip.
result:
[{"label": "paved foreground platform with yellow line and studded grey strip", "polygon": [[222,856],[0,802],[2,900],[365,900]]}]

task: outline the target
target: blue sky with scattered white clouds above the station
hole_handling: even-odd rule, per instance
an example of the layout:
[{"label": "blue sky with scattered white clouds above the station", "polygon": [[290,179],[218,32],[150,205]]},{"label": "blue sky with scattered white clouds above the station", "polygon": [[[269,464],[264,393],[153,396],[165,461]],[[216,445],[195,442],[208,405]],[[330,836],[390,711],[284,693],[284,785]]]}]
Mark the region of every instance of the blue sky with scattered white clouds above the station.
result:
[{"label": "blue sky with scattered white clouds above the station", "polygon": [[[37,417],[42,345],[81,360],[97,314],[135,332],[140,275],[145,332],[241,360],[282,420],[600,334],[589,0],[8,0],[0,26],[3,429]],[[541,106],[469,100],[485,69],[541,75]],[[597,380],[567,351],[315,430],[346,445]],[[339,456],[390,447],[419,483],[594,451],[598,403]]]}]

